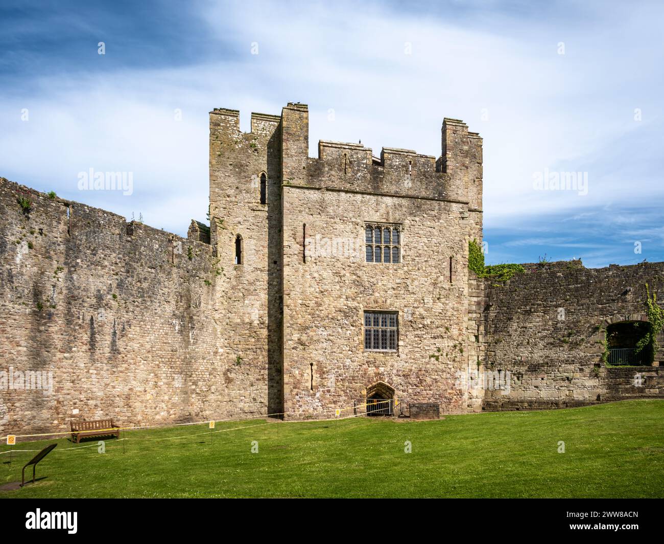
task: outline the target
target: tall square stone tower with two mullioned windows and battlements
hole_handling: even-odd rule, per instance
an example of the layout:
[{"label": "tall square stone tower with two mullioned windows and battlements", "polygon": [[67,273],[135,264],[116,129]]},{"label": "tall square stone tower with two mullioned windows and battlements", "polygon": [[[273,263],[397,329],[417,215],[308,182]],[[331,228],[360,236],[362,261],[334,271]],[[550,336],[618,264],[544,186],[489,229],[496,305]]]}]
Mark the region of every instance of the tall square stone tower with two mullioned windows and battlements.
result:
[{"label": "tall square stone tower with two mullioned windows and battlements", "polygon": [[235,337],[267,357],[269,411],[373,394],[465,410],[454,384],[481,207],[481,138],[459,120],[444,120],[440,158],[327,141],[309,158],[305,104],[252,114],[249,133],[238,111],[210,112],[210,242],[230,271],[227,309],[244,315]]}]

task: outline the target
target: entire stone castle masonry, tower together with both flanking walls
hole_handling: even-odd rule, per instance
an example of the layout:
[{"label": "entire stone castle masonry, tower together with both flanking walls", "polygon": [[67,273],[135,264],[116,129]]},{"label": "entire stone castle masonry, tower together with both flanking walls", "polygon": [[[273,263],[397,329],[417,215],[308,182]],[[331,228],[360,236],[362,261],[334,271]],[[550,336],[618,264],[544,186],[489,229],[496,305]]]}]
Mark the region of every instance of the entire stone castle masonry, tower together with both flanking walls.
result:
[{"label": "entire stone castle masonry, tower together with both flanking walls", "polygon": [[[374,391],[442,413],[662,396],[657,367],[606,368],[598,344],[643,319],[662,263],[478,279],[477,134],[446,118],[440,158],[323,140],[311,158],[308,115],[254,113],[243,133],[210,112],[210,225],[188,239],[0,178],[0,433],[331,417]],[[398,225],[399,263],[365,261],[367,223]],[[365,311],[396,313],[398,349],[364,349]],[[494,370],[509,392],[477,387]]]}]

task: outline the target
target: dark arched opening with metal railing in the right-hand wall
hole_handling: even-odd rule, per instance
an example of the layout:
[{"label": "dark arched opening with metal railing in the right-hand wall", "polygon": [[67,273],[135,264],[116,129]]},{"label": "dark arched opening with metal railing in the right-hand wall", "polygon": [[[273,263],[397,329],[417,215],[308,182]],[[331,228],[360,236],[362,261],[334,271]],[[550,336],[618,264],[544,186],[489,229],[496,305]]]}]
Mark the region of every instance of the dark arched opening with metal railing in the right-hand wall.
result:
[{"label": "dark arched opening with metal railing in the right-hand wall", "polygon": [[654,353],[647,344],[651,325],[647,321],[622,321],[606,327],[609,364],[651,364]]}]

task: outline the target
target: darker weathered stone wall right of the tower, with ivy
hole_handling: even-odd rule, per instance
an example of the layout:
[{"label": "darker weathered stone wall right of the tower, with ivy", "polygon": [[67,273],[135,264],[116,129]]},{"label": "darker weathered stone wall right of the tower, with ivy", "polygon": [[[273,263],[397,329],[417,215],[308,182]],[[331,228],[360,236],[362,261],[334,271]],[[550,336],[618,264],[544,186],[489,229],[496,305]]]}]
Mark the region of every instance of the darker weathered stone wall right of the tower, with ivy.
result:
[{"label": "darker weathered stone wall right of the tower, with ivy", "polygon": [[[600,365],[606,325],[647,319],[645,283],[659,299],[664,297],[664,263],[602,269],[586,269],[580,261],[524,266],[527,273],[506,285],[485,280],[488,360],[483,370],[511,374],[509,391],[485,390],[485,409],[564,408],[664,396],[664,376],[657,366]],[[655,360],[664,360],[661,350]],[[634,385],[637,374],[640,387]]]}]

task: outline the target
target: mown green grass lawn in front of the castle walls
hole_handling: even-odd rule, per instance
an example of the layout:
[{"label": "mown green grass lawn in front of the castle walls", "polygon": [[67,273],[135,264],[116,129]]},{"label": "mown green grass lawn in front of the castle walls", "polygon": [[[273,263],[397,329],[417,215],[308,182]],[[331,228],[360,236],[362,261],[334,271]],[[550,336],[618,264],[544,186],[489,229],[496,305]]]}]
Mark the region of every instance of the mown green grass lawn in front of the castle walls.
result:
[{"label": "mown green grass lawn in front of the castle walls", "polygon": [[[44,479],[0,497],[664,496],[663,400],[424,422],[224,422],[215,431],[211,445],[207,426],[129,431],[124,443],[106,440],[106,454],[96,440],[79,450],[58,440],[37,467]],[[33,455],[15,452],[11,466],[0,455],[0,484],[20,481]]]}]

